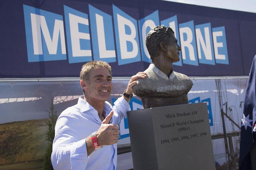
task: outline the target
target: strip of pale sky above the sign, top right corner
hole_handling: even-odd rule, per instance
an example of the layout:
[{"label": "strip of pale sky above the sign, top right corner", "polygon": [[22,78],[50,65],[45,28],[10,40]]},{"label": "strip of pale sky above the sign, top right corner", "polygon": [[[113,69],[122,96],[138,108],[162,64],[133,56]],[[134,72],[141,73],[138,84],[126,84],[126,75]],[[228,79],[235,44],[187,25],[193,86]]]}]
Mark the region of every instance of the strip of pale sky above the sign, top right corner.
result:
[{"label": "strip of pale sky above the sign, top right corner", "polygon": [[166,0],[166,1],[256,13],[256,0]]}]

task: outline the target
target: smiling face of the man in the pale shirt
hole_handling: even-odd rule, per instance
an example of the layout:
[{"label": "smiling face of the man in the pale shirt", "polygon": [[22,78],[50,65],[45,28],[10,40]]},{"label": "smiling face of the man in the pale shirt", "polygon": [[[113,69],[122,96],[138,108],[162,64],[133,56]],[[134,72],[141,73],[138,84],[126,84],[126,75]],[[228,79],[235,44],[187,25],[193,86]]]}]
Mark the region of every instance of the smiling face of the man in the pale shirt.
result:
[{"label": "smiling face of the man in the pale shirt", "polygon": [[112,77],[108,69],[99,67],[90,71],[89,81],[85,80],[85,97],[87,101],[107,101],[112,91]]}]

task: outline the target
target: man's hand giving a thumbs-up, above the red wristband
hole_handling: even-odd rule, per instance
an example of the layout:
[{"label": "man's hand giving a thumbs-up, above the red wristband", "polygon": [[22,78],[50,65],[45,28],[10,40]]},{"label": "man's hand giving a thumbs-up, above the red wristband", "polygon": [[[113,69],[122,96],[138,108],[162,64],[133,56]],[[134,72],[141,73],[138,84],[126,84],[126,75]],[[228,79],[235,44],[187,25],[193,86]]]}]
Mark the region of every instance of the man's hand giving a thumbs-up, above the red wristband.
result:
[{"label": "man's hand giving a thumbs-up, above the red wristband", "polygon": [[108,124],[113,116],[114,112],[111,111],[110,114],[102,121],[101,127],[96,132],[97,140],[100,146],[115,144],[119,138],[119,126]]}]

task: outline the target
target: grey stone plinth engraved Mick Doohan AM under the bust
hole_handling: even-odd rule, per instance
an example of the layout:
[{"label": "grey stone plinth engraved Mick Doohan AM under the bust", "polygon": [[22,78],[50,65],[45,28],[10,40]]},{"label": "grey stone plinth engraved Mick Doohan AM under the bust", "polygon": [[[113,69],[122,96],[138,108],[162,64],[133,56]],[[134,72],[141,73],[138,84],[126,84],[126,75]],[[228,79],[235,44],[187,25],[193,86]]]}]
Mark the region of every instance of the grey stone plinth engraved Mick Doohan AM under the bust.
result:
[{"label": "grey stone plinth engraved Mick Doohan AM under the bust", "polygon": [[127,115],[135,170],[215,170],[206,103]]}]

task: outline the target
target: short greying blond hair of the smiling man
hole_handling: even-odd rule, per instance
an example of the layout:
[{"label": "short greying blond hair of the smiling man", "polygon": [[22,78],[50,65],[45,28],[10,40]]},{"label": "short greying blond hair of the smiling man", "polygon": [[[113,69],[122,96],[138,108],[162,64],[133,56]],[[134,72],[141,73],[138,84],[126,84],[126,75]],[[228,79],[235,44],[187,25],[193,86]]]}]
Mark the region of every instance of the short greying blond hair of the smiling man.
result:
[{"label": "short greying blond hair of the smiling man", "polygon": [[80,72],[80,80],[87,80],[90,79],[90,71],[99,67],[105,67],[110,72],[110,75],[112,75],[111,72],[111,66],[104,61],[91,61],[82,66],[81,72]]}]

